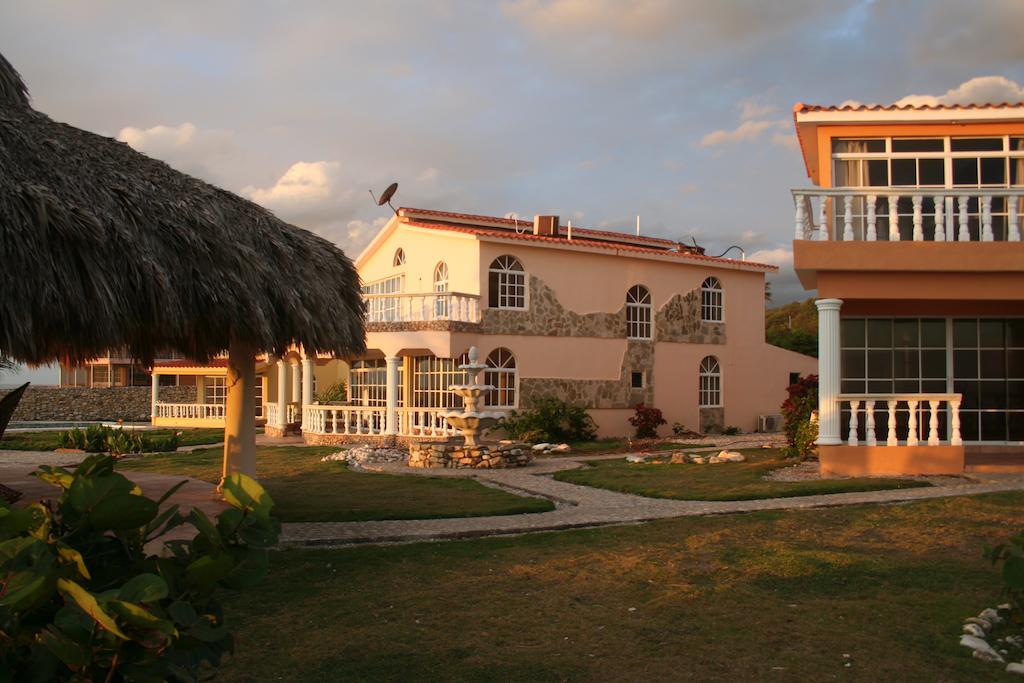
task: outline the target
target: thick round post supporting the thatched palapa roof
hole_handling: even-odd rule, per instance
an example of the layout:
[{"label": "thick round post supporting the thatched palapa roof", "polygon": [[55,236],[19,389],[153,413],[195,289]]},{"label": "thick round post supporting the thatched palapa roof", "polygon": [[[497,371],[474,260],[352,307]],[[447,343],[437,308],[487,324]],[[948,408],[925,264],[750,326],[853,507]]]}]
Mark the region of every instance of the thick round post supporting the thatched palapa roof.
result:
[{"label": "thick round post supporting the thatched palapa roof", "polygon": [[[236,472],[256,476],[256,348],[232,339],[227,348],[224,405],[224,478]],[[220,486],[218,486],[218,490]]]}]

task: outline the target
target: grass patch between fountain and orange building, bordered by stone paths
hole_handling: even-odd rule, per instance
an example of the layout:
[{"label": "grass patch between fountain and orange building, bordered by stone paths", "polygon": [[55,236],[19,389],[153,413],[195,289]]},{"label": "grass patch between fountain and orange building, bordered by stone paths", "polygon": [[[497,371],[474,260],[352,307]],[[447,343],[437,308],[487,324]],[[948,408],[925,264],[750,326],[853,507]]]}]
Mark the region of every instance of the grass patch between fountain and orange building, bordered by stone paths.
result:
[{"label": "grass patch between fountain and orange building, bordered by stone paths", "polygon": [[590,467],[558,472],[555,478],[585,486],[684,501],[745,501],[929,485],[915,479],[873,477],[765,481],[762,477],[766,473],[792,465],[793,461],[783,460],[777,451],[743,453],[748,458],[745,463],[717,465],[639,465],[625,460],[596,461],[591,462]]}]

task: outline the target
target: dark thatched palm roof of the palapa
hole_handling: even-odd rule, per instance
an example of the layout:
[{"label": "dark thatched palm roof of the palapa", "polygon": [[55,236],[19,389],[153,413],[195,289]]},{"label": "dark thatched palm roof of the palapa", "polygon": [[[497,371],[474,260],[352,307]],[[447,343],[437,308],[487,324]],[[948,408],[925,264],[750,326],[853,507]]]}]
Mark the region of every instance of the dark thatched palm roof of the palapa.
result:
[{"label": "dark thatched palm roof of the palapa", "polygon": [[0,356],[206,359],[232,338],[344,355],[362,350],[364,319],[333,244],[36,112],[0,55]]}]

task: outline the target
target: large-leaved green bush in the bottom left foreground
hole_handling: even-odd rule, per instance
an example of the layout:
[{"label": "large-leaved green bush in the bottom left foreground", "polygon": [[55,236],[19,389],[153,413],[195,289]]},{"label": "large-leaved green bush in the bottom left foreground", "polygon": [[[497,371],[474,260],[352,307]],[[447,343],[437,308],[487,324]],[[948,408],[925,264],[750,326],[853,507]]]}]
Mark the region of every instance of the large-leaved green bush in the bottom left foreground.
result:
[{"label": "large-leaved green bush in the bottom left foreground", "polygon": [[[56,501],[0,507],[0,681],[194,681],[231,651],[216,598],[266,573],[270,497],[234,474],[216,520],[182,515],[165,503],[184,481],[154,501],[114,464],[43,467]],[[185,523],[190,541],[146,552]]]}]

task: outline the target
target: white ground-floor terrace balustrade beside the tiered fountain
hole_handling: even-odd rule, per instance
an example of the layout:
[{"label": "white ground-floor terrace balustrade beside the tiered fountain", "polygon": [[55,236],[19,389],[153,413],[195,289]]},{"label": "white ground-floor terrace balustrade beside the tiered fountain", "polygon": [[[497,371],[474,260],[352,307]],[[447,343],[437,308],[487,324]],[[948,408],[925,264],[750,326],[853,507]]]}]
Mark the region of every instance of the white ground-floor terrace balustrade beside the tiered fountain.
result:
[{"label": "white ground-floor terrace balustrade beside the tiered fountain", "polygon": [[[395,411],[398,436],[447,437],[459,433],[441,415],[449,409],[399,408]],[[387,433],[383,405],[306,405],[302,431],[310,434],[373,435]]]}]

